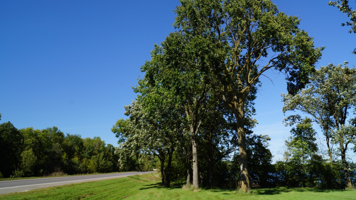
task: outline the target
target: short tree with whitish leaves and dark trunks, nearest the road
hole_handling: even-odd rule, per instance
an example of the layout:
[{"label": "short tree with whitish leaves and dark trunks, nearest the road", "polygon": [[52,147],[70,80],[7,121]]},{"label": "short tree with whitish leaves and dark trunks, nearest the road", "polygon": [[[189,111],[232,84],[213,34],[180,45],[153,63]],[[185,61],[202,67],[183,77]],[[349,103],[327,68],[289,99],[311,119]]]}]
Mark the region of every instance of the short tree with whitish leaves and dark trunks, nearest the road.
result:
[{"label": "short tree with whitish leaves and dark trunks, nearest the road", "polygon": [[125,167],[128,158],[141,153],[155,155],[161,164],[162,184],[169,187],[173,153],[185,142],[184,112],[159,84],[151,87],[146,80],[140,80],[135,91],[140,93],[136,101],[125,106],[129,119],[117,120],[111,129],[119,138],[120,165]]}]

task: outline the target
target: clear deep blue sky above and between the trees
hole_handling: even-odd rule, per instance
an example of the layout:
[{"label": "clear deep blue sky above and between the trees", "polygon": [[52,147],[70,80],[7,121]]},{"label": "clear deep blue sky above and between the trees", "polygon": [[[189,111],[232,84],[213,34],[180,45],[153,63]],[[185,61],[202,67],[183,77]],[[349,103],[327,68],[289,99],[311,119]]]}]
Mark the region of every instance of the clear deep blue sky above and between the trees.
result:
[{"label": "clear deep blue sky above and between the trees", "polygon": [[[329,0],[274,0],[280,11],[298,15],[300,28],[325,46],[318,66],[349,61],[356,34],[340,24],[347,17]],[[56,126],[83,138],[99,136],[117,145],[111,127],[136,94],[154,43],[174,31],[179,1],[0,1],[0,123],[16,128]],[[283,75],[262,78],[256,100],[255,133],[272,138],[278,150],[289,136],[284,127]],[[317,127],[316,127],[317,128]],[[318,129],[317,129],[318,130]]]}]

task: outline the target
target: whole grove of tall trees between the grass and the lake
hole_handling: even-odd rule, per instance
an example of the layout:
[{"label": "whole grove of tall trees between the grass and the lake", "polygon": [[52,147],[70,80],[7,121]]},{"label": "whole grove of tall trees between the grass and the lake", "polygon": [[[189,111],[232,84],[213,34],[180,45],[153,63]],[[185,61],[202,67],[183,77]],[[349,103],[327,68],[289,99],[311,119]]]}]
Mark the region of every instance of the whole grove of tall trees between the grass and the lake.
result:
[{"label": "whole grove of tall trees between the grass and the lake", "polygon": [[[137,97],[125,106],[128,118],[112,128],[119,165],[137,153],[155,156],[167,187],[173,178],[194,188],[236,186],[245,192],[272,185],[351,188],[355,173],[346,152],[355,143],[355,119],[349,117],[355,113],[355,69],[345,63],[316,70],[324,47],[315,47],[298,28],[298,17],[272,1],[180,3],[176,31],[155,44],[141,67],[145,75],[133,87]],[[296,127],[285,159],[276,164],[268,135],[252,132],[253,101],[268,70],[286,76],[283,111],[310,117],[286,119]],[[312,123],[325,130],[324,144],[337,146],[329,159],[318,153]]]}]

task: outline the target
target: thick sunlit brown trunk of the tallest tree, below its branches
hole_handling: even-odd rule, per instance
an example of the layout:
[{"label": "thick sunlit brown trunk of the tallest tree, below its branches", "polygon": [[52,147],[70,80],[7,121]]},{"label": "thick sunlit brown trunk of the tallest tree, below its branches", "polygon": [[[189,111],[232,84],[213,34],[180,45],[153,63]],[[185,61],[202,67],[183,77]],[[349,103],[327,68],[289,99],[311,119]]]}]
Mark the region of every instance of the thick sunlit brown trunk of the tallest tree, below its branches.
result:
[{"label": "thick sunlit brown trunk of the tallest tree, below its branches", "polygon": [[241,170],[241,189],[244,192],[250,191],[250,180],[248,179],[247,171],[247,153],[246,153],[246,135],[244,131],[244,103],[240,99],[238,103],[237,113],[235,112],[237,123],[237,134],[239,136],[239,154],[240,154],[240,170]]}]

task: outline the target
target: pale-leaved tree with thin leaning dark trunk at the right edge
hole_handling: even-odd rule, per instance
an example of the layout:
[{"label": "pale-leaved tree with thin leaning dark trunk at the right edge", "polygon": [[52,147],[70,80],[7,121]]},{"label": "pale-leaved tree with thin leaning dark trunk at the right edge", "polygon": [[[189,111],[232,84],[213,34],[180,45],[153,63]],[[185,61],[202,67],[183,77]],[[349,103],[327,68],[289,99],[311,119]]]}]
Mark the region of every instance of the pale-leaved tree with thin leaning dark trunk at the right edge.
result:
[{"label": "pale-leaved tree with thin leaning dark trunk at the right edge", "polygon": [[[354,142],[356,136],[356,69],[329,64],[320,67],[310,76],[307,88],[297,95],[283,94],[283,112],[299,110],[312,117],[320,125],[330,142],[339,146],[339,155],[344,165],[348,187],[351,187],[349,166],[346,161],[347,145]],[[292,115],[284,119],[290,124],[300,121],[300,116]],[[330,150],[329,150],[330,151]],[[331,159],[331,152],[330,159]]]}]

